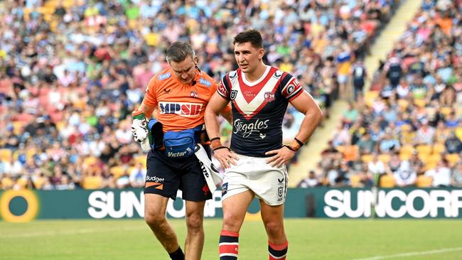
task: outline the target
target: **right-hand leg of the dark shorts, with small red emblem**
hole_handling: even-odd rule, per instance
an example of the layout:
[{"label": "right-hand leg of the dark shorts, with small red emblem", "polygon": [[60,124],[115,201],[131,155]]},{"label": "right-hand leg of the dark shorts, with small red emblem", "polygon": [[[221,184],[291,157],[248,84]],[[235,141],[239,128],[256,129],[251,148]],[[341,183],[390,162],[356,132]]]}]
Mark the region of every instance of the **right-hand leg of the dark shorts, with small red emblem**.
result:
[{"label": "right-hand leg of the dark shorts, with small red emblem", "polygon": [[188,158],[188,162],[181,168],[181,185],[183,199],[193,202],[210,200],[212,193],[205,181],[202,168],[195,156]]}]

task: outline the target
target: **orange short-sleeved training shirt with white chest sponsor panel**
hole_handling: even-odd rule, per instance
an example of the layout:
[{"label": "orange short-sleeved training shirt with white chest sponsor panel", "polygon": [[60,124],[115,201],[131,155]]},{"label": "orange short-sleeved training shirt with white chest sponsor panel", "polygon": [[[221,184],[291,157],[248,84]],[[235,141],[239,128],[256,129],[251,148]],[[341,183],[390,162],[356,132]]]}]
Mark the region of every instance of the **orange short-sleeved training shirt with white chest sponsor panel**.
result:
[{"label": "orange short-sleeved training shirt with white chest sponsor panel", "polygon": [[163,131],[181,131],[204,124],[205,106],[217,90],[217,83],[198,69],[194,82],[181,83],[171,68],[149,80],[143,102],[157,107],[154,117],[163,124]]}]

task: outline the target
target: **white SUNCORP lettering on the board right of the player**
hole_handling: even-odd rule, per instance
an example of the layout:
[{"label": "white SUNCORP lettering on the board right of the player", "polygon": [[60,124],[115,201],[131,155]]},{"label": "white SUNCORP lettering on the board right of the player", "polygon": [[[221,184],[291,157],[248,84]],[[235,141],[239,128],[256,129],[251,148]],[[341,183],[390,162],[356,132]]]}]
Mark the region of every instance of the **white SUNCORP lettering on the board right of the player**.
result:
[{"label": "white SUNCORP lettering on the board right of the player", "polygon": [[327,217],[459,217],[462,190],[328,190]]}]

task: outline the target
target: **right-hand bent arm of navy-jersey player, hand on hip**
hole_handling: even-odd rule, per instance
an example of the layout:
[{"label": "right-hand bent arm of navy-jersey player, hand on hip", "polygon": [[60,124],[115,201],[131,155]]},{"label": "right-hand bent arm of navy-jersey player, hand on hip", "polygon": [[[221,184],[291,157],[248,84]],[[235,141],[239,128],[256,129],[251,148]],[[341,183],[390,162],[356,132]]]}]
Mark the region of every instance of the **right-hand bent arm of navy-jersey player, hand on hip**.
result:
[{"label": "right-hand bent arm of navy-jersey player, hand on hip", "polygon": [[291,141],[289,146],[283,146],[280,149],[268,151],[266,154],[274,154],[267,160],[271,166],[280,167],[284,163],[287,163],[295,156],[296,151],[303,146],[303,143],[308,141],[308,138],[313,134],[316,126],[321,122],[323,118],[323,112],[319,108],[316,101],[314,101],[311,94],[302,90],[299,96],[295,97],[290,102],[295,109],[305,114],[299,132],[296,134],[295,139]]}]

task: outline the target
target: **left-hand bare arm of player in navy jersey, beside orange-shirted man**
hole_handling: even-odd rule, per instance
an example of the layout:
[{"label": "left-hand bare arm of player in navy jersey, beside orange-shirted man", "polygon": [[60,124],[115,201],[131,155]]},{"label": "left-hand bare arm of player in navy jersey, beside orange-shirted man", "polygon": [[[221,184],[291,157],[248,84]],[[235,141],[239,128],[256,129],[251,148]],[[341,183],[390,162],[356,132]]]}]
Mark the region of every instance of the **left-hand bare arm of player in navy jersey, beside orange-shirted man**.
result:
[{"label": "left-hand bare arm of player in navy jersey, beside orange-shirted man", "polygon": [[215,152],[215,158],[222,164],[223,167],[229,168],[230,163],[236,165],[235,159],[237,156],[229,150],[229,148],[222,145],[220,141],[220,123],[218,122],[218,114],[227,107],[228,101],[220,96],[217,92],[213,94],[205,108],[205,129],[210,138],[210,146]]}]

